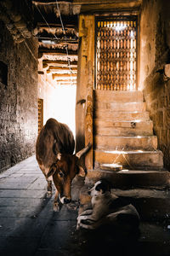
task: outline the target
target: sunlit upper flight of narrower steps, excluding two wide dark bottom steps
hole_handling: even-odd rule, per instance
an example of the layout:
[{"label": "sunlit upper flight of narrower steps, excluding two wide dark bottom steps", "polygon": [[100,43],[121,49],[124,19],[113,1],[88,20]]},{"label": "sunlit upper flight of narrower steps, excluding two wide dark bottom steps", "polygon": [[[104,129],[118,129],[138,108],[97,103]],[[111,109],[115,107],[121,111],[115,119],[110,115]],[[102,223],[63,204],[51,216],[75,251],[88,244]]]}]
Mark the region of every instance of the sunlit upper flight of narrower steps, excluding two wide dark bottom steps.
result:
[{"label": "sunlit upper flight of narrower steps, excluding two wide dark bottom steps", "polygon": [[162,170],[163,155],[141,91],[95,91],[95,167]]}]

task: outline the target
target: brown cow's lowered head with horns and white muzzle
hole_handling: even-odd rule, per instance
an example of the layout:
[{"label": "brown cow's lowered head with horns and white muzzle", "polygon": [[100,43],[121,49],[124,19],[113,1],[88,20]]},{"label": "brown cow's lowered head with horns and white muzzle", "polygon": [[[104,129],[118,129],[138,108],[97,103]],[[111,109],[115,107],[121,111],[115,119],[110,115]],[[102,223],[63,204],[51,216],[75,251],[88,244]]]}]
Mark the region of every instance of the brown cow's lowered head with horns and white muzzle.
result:
[{"label": "brown cow's lowered head with horns and white muzzle", "polygon": [[[84,176],[85,172],[81,166],[77,165],[78,160],[83,154],[91,148],[89,143],[77,154],[57,154],[56,162],[50,167],[47,177],[53,175],[54,185],[59,192],[59,200],[61,203],[71,202],[71,181],[78,174]],[[83,172],[83,173],[82,173]]]}]

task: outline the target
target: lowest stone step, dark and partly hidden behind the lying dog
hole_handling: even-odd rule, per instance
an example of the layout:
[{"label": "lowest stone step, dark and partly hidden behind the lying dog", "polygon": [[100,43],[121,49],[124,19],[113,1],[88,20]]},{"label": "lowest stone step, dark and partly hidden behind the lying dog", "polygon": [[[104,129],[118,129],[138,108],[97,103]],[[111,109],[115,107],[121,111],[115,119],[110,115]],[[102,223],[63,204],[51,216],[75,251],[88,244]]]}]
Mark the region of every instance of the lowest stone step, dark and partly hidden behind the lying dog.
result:
[{"label": "lowest stone step, dark and partly hidden behind the lying dog", "polygon": [[[85,184],[80,191],[81,207],[79,212],[90,206],[91,197],[88,189],[92,185]],[[167,189],[111,189],[111,193],[126,198],[137,208],[141,220],[166,220],[169,218],[170,191]]]}]

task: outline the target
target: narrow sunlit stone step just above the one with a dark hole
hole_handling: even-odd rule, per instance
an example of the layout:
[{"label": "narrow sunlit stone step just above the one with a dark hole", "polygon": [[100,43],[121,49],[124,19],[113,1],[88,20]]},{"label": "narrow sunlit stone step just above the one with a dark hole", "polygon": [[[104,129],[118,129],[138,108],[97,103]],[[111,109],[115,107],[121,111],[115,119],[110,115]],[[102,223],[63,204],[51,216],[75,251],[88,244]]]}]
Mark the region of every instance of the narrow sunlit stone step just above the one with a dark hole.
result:
[{"label": "narrow sunlit stone step just above the one with a dark hole", "polygon": [[149,112],[127,112],[127,111],[115,111],[115,110],[96,110],[94,112],[94,118],[99,119],[111,119],[112,121],[133,121],[133,120],[145,120],[149,121]]}]

